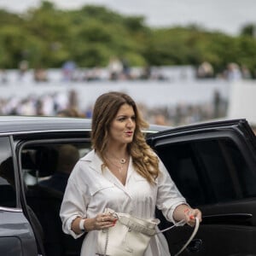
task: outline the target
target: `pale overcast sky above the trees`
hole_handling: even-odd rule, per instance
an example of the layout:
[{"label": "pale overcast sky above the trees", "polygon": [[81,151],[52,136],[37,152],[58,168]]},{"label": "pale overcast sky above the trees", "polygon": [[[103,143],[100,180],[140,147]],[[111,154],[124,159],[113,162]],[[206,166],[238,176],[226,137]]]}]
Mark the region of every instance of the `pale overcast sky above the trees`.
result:
[{"label": "pale overcast sky above the trees", "polygon": [[[248,23],[256,26],[256,0],[50,0],[59,9],[103,5],[121,15],[143,15],[148,26],[188,26],[237,35]],[[40,0],[0,0],[0,8],[24,12]]]}]

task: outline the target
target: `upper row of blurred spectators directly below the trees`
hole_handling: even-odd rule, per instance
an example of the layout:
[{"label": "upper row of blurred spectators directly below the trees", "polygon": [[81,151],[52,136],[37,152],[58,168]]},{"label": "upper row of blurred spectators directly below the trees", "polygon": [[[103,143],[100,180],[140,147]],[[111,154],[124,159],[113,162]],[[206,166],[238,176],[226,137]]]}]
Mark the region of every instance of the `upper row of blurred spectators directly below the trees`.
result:
[{"label": "upper row of blurred spectators directly below the trees", "polygon": [[[138,80],[154,79],[226,79],[236,81],[239,79],[254,79],[256,73],[251,73],[246,66],[240,67],[237,63],[228,63],[221,73],[216,73],[212,64],[204,61],[198,67],[131,67],[125,59],[113,57],[109,60],[107,67],[78,67],[74,61],[65,61],[58,69],[61,73],[62,82],[90,82],[99,80]],[[30,71],[30,72],[29,72]],[[25,79],[28,73],[32,72],[32,79],[35,82],[48,82],[52,79],[50,69],[43,67],[29,68],[27,61],[20,61],[17,69],[17,77]],[[0,84],[9,82],[9,72],[0,69]]]}]

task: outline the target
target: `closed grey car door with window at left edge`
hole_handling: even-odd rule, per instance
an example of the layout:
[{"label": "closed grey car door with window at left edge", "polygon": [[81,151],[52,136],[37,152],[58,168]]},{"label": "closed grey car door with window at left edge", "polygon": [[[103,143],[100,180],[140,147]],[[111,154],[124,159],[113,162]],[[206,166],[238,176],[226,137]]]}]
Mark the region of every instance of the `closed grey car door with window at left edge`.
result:
[{"label": "closed grey car door with window at left edge", "polygon": [[0,254],[38,255],[31,224],[20,207],[11,141],[10,137],[0,137]]}]

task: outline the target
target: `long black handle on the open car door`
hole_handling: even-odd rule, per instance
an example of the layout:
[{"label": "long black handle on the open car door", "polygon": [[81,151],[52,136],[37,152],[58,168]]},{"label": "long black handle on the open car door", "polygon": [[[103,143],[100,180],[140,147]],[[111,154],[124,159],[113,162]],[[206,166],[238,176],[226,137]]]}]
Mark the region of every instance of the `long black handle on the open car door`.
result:
[{"label": "long black handle on the open car door", "polygon": [[226,213],[226,214],[214,214],[205,215],[202,217],[202,224],[221,224],[221,223],[241,223],[244,224],[253,218],[251,213]]}]

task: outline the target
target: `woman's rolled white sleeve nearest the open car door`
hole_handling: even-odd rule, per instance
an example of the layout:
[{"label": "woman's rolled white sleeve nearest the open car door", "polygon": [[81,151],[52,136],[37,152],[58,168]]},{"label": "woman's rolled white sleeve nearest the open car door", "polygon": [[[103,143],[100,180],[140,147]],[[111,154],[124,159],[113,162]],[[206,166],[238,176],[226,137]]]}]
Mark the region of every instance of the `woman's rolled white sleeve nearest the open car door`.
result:
[{"label": "woman's rolled white sleeve nearest the open car door", "polygon": [[166,170],[166,166],[160,160],[160,174],[157,178],[158,193],[156,200],[156,207],[163,212],[167,220],[173,224],[176,223],[173,218],[173,212],[176,207],[182,204],[188,205],[183,195],[177,189],[176,184],[173,182],[172,177]]}]

